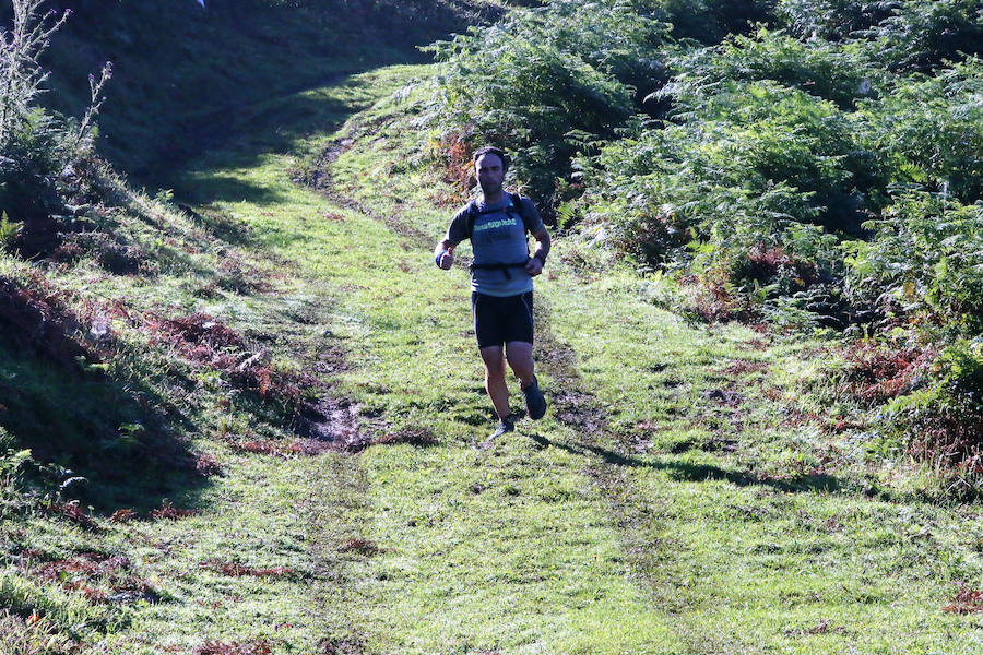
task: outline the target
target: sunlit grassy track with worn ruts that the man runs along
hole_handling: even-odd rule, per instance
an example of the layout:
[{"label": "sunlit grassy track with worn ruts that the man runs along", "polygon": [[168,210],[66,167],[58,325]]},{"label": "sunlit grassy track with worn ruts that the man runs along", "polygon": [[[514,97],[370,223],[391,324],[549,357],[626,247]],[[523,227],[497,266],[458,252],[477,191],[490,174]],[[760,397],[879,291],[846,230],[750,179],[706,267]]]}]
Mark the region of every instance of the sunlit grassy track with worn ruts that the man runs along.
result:
[{"label": "sunlit grassy track with worn ruts that the man runs along", "polygon": [[[412,73],[380,71],[371,86]],[[435,203],[441,182],[412,164],[399,114],[383,104],[341,133],[305,131],[289,154],[245,143],[185,182],[335,299],[331,329],[352,367],[340,391],[369,429],[437,441],[323,462],[357,480],[334,492],[351,495],[343,502],[372,545],[344,585],[322,581],[317,594],[343,590],[356,635],[344,643],[366,653],[979,650],[979,620],[940,610],[958,582],[979,579],[978,513],[864,492],[844,464],[850,444],[824,427],[836,417],[809,400],[822,343],[691,326],[646,302],[642,281],[584,281],[555,257],[538,285],[550,414],[476,448],[490,412],[466,278],[429,264],[425,235],[435,240],[449,211]],[[294,183],[292,170],[342,138],[355,141],[329,158],[333,199]],[[315,545],[329,549],[324,537]]]}]

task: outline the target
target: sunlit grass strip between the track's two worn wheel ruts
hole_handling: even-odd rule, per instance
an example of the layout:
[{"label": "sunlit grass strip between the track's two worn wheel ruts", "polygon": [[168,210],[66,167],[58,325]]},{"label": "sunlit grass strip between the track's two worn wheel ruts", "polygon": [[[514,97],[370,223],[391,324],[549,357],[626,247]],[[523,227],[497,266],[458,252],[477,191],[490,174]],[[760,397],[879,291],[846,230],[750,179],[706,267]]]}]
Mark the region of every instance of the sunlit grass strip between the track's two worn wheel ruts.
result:
[{"label": "sunlit grass strip between the track's two worn wheel ruts", "polygon": [[[418,234],[393,231],[297,187],[289,157],[271,154],[259,166],[251,165],[252,153],[246,158],[250,165],[242,166],[241,153],[218,153],[222,167],[210,163],[190,175],[196,202],[242,217],[298,275],[331,289],[337,299],[332,330],[353,366],[343,389],[364,416],[379,417],[391,432],[425,431],[439,441],[329,457],[335,458],[332,469],[356,466],[353,475],[367,481],[368,489],[350,492],[367,493],[362,536],[380,549],[360,564],[357,581],[348,579],[356,599],[345,609],[353,641],[367,652],[494,652],[547,643],[559,652],[595,652],[591,633],[617,635],[626,617],[655,628],[661,614],[627,579],[602,490],[584,485],[581,454],[524,438],[474,448],[489,421],[477,364],[461,356],[470,342],[446,338],[448,330],[461,330],[451,325],[466,309],[464,281],[434,277],[428,258],[418,254]],[[215,180],[233,178],[233,188],[261,189],[276,202],[228,202]],[[414,291],[426,277],[422,298]],[[451,298],[450,311],[421,324],[428,303]],[[441,359],[448,366],[435,364]],[[322,484],[311,480],[312,488]],[[336,550],[336,540],[312,546]],[[475,568],[474,561],[485,563]],[[671,638],[667,628],[650,629],[632,641],[635,652],[659,652]]]}]

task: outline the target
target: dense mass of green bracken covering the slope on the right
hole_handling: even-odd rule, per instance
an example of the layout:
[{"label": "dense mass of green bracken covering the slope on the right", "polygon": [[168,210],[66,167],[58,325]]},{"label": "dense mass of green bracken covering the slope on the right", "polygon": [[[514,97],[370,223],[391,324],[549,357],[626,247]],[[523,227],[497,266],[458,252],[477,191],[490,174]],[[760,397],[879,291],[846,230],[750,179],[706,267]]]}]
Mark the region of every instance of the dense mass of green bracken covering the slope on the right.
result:
[{"label": "dense mass of green bracken covering the slope on the right", "polygon": [[[650,28],[621,33],[630,48],[602,41],[606,56],[589,61],[618,62],[603,78],[576,67],[562,78],[486,47],[519,39],[544,48],[540,60],[583,60],[570,44],[603,29],[564,3],[438,50],[440,143],[455,135],[513,148],[516,181],[564,225],[608,257],[696,283],[690,308],[704,318],[850,329],[895,346],[951,346],[957,359],[967,353],[958,340],[980,338],[979,3],[790,0],[763,8],[754,29],[690,7],[702,34],[676,31],[684,19],[670,3],[595,4]],[[718,37],[720,25],[730,27]],[[628,71],[648,62],[659,74],[639,87]],[[571,75],[593,97],[624,85],[636,102],[609,103],[603,124],[581,120],[592,96],[566,94]],[[552,97],[495,92],[502,81],[550,88],[561,78]],[[570,104],[557,107],[558,97]],[[946,382],[951,361],[923,359],[898,394],[940,394],[979,413],[979,396],[950,395],[968,389]],[[897,422],[884,433],[913,434],[892,409],[886,416]]]}]

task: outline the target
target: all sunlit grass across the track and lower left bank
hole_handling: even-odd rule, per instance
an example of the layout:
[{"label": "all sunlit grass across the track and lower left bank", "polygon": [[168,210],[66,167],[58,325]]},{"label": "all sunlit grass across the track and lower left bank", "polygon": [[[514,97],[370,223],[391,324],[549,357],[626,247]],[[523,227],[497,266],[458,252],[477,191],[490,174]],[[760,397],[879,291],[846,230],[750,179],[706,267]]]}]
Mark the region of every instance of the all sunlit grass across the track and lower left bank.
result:
[{"label": "all sunlit grass across the track and lower left bank", "polygon": [[[186,267],[145,281],[82,262],[50,278],[134,309],[208,311],[262,336],[287,368],[344,350],[352,368],[337,393],[359,403],[365,429],[427,429],[438,444],[247,455],[229,434],[289,436],[245,401],[228,409],[228,390],[191,371],[189,448],[226,475],[171,500],[201,514],[103,515],[93,532],[28,511],[0,527],[0,599],[26,598],[19,607],[108,653],[256,639],[276,653],[978,652],[980,620],[940,608],[958,582],[980,586],[979,513],[864,492],[860,439],[821,429],[830,416],[798,418],[829,412],[806,395],[822,343],[688,325],[643,300],[651,283],[582,279],[560,242],[537,300],[553,409],[477,448],[490,412],[466,275],[428,255],[447,189],[414,164],[400,106],[324,132],[418,73],[356,76],[241,117],[242,135],[176,187],[206,215],[248,226],[238,245],[173,215],[178,236],[199,239]],[[294,183],[350,135],[331,166],[334,200]],[[202,294],[229,253],[274,288]],[[380,550],[343,547],[356,537]],[[87,603],[23,569],[88,551],[126,555],[163,600]],[[213,560],[294,572],[230,577]]]}]

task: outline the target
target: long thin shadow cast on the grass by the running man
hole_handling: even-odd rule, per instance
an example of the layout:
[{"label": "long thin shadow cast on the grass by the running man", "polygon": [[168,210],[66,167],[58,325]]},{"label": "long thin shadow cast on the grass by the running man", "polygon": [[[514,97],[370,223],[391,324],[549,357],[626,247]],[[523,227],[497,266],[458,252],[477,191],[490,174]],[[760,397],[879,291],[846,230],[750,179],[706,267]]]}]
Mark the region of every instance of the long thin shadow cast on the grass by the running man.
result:
[{"label": "long thin shadow cast on the grass by the running man", "polygon": [[770,487],[775,491],[789,493],[834,493],[843,488],[839,478],[828,475],[809,475],[791,480],[778,480],[755,476],[749,473],[727,471],[726,468],[721,468],[713,464],[694,464],[691,462],[673,461],[670,458],[660,458],[658,461],[641,460],[590,443],[562,443],[550,441],[546,437],[540,434],[529,434],[528,437],[543,448],[552,445],[576,455],[600,457],[605,464],[615,466],[664,471],[667,472],[673,479],[686,483],[724,480],[737,487]]}]

